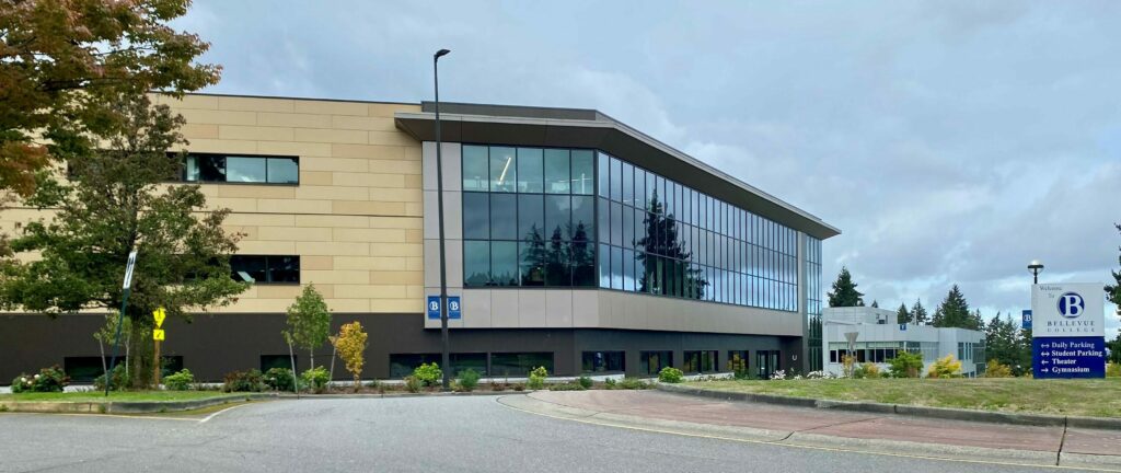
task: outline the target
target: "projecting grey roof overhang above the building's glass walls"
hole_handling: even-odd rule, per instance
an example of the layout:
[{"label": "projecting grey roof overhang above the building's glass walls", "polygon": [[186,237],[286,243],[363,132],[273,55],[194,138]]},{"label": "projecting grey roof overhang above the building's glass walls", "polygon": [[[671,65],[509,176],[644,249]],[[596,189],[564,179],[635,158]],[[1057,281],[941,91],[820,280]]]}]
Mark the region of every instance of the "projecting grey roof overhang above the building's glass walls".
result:
[{"label": "projecting grey roof overhang above the building's glass walls", "polygon": [[[600,149],[814,238],[841,234],[821,219],[592,110],[545,109],[538,117],[510,117],[456,112],[531,109],[443,102],[441,108],[447,110],[439,117],[444,141]],[[419,141],[436,140],[434,113],[397,112],[395,121]]]}]

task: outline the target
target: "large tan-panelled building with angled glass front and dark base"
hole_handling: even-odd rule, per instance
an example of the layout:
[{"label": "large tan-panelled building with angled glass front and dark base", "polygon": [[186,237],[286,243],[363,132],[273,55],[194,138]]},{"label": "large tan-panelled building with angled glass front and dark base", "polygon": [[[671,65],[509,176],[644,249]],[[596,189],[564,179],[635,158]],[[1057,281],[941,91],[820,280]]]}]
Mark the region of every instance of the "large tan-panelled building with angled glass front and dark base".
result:
[{"label": "large tan-panelled building with angled glass front and dark base", "polygon": [[[430,103],[160,101],[187,119],[183,180],[233,211],[233,277],[254,281],[231,307],[165,324],[174,365],[210,380],[286,367],[282,314],[308,284],[336,326],[369,332],[364,375],[439,360],[425,315],[439,294]],[[651,375],[744,360],[766,375],[821,360],[821,242],[837,229],[594,110],[441,108],[454,369]],[[40,216],[0,213],[9,231]],[[55,363],[96,374],[100,324],[0,315],[0,380]]]}]

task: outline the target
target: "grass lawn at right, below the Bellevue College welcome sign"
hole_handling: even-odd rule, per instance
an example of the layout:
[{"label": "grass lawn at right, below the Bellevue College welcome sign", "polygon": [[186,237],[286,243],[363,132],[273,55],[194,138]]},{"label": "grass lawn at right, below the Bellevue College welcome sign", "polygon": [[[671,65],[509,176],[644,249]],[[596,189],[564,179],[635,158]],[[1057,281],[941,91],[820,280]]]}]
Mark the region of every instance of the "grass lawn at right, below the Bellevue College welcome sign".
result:
[{"label": "grass lawn at right, below the Bellevue College welcome sign", "polygon": [[840,379],[697,381],[686,386],[799,398],[962,409],[1121,417],[1121,379]]}]

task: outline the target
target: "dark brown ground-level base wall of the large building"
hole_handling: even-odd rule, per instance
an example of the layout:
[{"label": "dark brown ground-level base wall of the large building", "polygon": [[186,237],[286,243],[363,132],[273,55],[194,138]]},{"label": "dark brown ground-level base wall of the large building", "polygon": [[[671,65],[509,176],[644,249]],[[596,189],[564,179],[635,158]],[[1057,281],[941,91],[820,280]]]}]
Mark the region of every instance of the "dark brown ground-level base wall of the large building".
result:
[{"label": "dark brown ground-level base wall of the large building", "polygon": [[[344,323],[358,321],[369,334],[363,379],[388,378],[390,354],[439,353],[438,330],[424,328],[423,314],[334,314],[332,332]],[[96,358],[93,332],[101,325],[99,315],[0,315],[0,384],[7,386],[21,372],[64,365],[67,358]],[[168,319],[164,323],[167,340],[161,353],[182,356],[183,367],[200,381],[220,381],[223,374],[261,367],[262,355],[287,355],[280,335],[282,314],[198,315],[192,322]],[[453,330],[452,353],[529,353],[552,352],[557,375],[576,375],[585,351],[626,351],[627,374],[639,375],[640,352],[673,351],[673,364],[682,368],[684,352],[719,351],[719,367],[728,363],[729,350],[750,351],[754,369],[756,352],[780,351],[779,369],[804,362],[798,353],[799,337],[769,335],[729,335],[683,332],[649,332],[583,328]],[[106,356],[110,353],[106,353]],[[123,353],[122,353],[123,354]],[[795,362],[794,356],[798,360]],[[318,365],[331,363],[331,346],[316,350]],[[308,353],[297,352],[300,371],[309,365]],[[501,373],[497,373],[501,374]],[[341,361],[335,363],[335,379],[349,379]]]}]

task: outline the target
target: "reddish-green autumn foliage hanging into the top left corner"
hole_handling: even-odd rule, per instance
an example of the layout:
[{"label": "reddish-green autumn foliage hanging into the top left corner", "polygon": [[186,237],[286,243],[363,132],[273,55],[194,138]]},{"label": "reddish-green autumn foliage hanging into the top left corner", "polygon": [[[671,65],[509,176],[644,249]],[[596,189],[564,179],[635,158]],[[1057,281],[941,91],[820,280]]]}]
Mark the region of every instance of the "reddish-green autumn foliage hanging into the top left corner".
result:
[{"label": "reddish-green autumn foliage hanging into the top left corner", "polygon": [[0,1],[0,188],[33,194],[47,146],[112,135],[121,95],[179,96],[217,82],[209,45],[168,22],[189,0]]}]

